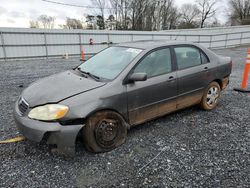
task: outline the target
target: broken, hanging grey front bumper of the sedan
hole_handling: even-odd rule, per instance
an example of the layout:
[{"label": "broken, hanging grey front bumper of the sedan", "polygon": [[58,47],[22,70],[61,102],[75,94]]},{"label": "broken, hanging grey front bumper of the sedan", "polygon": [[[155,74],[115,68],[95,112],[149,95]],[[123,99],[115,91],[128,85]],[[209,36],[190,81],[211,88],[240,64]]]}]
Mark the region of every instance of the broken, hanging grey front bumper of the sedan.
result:
[{"label": "broken, hanging grey front bumper of the sedan", "polygon": [[18,103],[15,104],[14,119],[18,129],[27,139],[40,142],[45,133],[48,133],[48,144],[56,144],[60,154],[74,156],[76,137],[84,124],[62,126],[58,122],[32,120],[19,114]]}]

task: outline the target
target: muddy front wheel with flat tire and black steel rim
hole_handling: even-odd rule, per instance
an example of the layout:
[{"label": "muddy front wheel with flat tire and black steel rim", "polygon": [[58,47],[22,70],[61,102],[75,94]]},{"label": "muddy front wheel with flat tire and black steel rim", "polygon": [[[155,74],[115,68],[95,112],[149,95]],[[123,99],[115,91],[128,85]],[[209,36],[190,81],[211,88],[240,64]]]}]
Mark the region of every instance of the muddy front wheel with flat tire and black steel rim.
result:
[{"label": "muddy front wheel with flat tire and black steel rim", "polygon": [[118,113],[101,111],[87,118],[82,133],[89,151],[106,152],[125,142],[127,127]]}]

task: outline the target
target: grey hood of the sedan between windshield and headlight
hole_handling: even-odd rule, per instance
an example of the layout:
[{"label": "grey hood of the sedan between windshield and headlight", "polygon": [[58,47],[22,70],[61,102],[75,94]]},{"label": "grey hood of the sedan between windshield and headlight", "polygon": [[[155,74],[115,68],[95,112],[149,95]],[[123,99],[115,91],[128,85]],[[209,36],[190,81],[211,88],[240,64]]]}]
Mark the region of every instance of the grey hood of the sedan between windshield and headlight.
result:
[{"label": "grey hood of the sedan between windshield and headlight", "polygon": [[105,84],[92,78],[81,77],[72,70],[34,82],[23,91],[22,97],[29,103],[30,107],[34,107],[47,103],[57,103]]}]

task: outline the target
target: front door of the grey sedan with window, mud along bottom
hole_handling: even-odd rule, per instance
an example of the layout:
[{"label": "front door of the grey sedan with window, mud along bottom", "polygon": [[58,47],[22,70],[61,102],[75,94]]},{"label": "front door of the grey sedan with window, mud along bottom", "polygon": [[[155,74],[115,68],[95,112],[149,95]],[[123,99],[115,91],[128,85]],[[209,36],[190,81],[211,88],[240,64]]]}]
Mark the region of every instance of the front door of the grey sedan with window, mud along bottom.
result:
[{"label": "front door of the grey sedan with window, mud along bottom", "polygon": [[127,84],[128,115],[131,125],[162,116],[176,109],[177,77],[170,48],[144,56],[131,73],[146,73],[147,80]]}]

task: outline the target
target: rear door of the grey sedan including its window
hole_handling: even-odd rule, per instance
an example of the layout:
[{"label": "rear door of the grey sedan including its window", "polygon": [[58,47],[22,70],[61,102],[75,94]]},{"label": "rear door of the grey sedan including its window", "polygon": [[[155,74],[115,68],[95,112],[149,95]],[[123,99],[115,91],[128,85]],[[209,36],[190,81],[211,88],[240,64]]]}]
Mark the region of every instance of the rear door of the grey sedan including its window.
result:
[{"label": "rear door of the grey sedan including its window", "polygon": [[206,55],[195,46],[175,46],[174,52],[178,69],[177,108],[181,109],[201,101],[208,84],[209,65],[205,63]]}]

